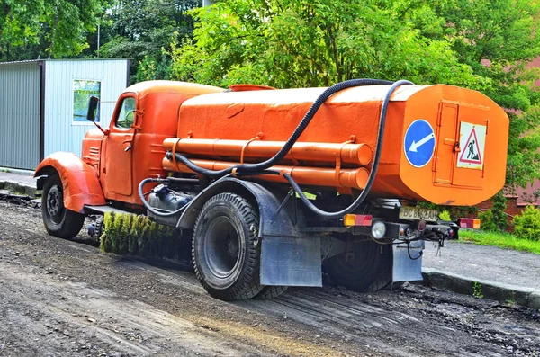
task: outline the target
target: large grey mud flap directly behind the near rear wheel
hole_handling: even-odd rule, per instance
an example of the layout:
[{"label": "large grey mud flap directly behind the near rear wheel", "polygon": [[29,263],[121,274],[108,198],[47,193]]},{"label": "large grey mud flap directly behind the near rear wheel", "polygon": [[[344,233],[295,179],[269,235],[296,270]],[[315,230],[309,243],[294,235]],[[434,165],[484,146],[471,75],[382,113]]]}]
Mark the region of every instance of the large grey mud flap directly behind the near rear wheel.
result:
[{"label": "large grey mud flap directly behind the near rear wheel", "polygon": [[264,237],[261,284],[322,286],[320,238]]}]

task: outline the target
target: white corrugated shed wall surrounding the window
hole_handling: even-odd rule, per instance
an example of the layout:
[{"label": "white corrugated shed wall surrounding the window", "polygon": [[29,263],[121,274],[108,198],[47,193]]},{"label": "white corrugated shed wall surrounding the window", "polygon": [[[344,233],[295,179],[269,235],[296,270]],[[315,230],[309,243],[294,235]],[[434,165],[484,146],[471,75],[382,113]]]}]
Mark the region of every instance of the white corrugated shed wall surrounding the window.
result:
[{"label": "white corrugated shed wall surrounding the window", "polygon": [[[48,60],[45,62],[45,156],[68,151],[81,156],[85,133],[94,128],[91,122],[73,122],[73,81],[101,82],[101,101],[115,102],[125,89],[128,61],[118,60]],[[109,127],[114,103],[101,103],[100,124]]]}]

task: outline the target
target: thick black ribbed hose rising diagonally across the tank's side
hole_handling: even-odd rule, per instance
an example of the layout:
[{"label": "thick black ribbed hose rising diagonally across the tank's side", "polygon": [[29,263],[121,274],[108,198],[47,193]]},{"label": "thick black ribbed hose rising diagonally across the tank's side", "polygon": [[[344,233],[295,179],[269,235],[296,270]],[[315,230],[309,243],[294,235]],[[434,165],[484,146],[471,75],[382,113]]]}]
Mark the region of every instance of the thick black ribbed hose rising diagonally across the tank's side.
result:
[{"label": "thick black ribbed hose rising diagonally across the tank's side", "polygon": [[[220,171],[214,171],[202,168],[198,165],[193,164],[187,157],[175,154],[175,159],[177,162],[180,162],[184,165],[186,165],[190,170],[193,170],[197,174],[203,174],[205,176],[211,177],[211,178],[220,178],[226,174],[232,173],[232,170],[235,168],[237,169],[237,174],[247,174],[252,173],[256,171],[264,171],[267,168],[274,166],[279,161],[281,161],[293,148],[294,143],[300,138],[304,130],[308,127],[311,120],[315,116],[315,113],[319,111],[320,106],[325,103],[330,95],[336,94],[344,89],[356,87],[356,86],[363,86],[363,85],[392,85],[393,82],[391,81],[385,81],[381,79],[350,79],[345,82],[338,83],[336,85],[332,85],[329,88],[327,88],[320,96],[315,100],[313,104],[311,104],[310,110],[306,112],[303,119],[301,120],[300,124],[294,129],[293,135],[285,142],[284,147],[282,147],[275,156],[270,157],[266,161],[263,161],[261,163],[257,164],[240,164],[240,165],[234,165],[232,167],[220,170]],[[409,82],[410,83],[410,82]],[[171,160],[172,159],[172,153],[167,152],[166,158]]]}]

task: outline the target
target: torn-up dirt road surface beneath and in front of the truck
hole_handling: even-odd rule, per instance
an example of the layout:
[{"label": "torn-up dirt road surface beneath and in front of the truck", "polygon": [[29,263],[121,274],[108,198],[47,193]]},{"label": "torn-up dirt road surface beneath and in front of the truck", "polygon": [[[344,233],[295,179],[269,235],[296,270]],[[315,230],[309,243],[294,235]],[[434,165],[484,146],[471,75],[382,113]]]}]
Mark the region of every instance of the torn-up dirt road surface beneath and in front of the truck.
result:
[{"label": "torn-up dirt road surface beneath and in front of the truck", "polygon": [[0,201],[0,356],[540,355],[526,308],[417,285],[227,303],[188,266],[49,237],[40,210]]}]

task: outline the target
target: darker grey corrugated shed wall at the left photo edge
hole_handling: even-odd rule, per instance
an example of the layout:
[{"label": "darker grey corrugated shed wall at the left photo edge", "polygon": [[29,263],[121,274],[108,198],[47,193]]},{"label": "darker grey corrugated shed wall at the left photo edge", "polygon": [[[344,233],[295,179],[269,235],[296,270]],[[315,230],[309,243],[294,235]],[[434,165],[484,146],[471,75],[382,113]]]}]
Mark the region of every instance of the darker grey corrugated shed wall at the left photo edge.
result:
[{"label": "darker grey corrugated shed wall at the left photo edge", "polygon": [[34,169],[40,163],[40,66],[0,66],[0,166]]}]

